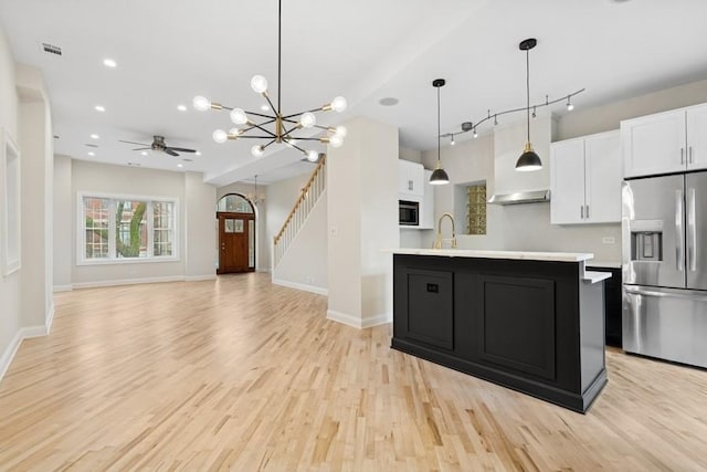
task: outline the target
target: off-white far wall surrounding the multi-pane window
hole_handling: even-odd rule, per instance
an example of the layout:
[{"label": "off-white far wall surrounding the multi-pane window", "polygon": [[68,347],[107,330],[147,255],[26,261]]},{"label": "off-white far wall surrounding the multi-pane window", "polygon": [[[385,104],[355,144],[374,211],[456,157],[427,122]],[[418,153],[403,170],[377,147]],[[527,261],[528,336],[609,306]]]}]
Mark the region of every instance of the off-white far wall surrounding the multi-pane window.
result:
[{"label": "off-white far wall surrounding the multi-pane window", "polygon": [[[215,277],[215,187],[203,182],[199,172],[172,172],[70,160],[54,159],[54,211],[71,214],[55,228],[54,273],[71,274],[68,284],[62,279],[56,289],[115,285],[139,282],[204,280]],[[66,176],[70,172],[70,176]],[[178,260],[165,262],[131,262],[77,265],[78,193],[99,192],[166,197],[178,200]],[[61,255],[60,255],[61,254]],[[66,254],[70,254],[66,256]]]}]

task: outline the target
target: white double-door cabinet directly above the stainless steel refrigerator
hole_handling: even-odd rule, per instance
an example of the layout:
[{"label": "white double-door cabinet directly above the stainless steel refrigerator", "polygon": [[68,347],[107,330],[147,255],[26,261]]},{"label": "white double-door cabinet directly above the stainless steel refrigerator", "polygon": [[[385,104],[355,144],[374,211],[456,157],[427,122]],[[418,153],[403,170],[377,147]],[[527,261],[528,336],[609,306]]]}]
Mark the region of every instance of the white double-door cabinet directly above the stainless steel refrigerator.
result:
[{"label": "white double-door cabinet directly above the stainless steel refrigerator", "polygon": [[624,176],[707,168],[707,104],[621,122]]}]

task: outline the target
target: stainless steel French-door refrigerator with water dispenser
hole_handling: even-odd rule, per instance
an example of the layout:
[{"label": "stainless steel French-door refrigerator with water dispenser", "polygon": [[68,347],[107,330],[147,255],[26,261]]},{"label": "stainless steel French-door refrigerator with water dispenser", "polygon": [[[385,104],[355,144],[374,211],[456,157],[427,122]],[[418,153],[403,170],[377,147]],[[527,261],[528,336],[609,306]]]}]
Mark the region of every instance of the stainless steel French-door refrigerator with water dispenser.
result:
[{"label": "stainless steel French-door refrigerator with water dispenser", "polygon": [[623,348],[707,367],[707,171],[622,189]]}]

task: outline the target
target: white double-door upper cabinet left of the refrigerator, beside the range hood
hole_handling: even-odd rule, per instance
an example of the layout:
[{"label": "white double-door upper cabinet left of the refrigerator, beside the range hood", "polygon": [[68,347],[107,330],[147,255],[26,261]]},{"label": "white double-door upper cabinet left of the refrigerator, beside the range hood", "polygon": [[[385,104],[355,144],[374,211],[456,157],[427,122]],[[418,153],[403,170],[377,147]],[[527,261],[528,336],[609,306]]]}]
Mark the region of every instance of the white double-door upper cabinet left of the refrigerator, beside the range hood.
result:
[{"label": "white double-door upper cabinet left of the refrigerator, beside the range hood", "polygon": [[550,222],[621,221],[621,170],[618,130],[552,143]]}]

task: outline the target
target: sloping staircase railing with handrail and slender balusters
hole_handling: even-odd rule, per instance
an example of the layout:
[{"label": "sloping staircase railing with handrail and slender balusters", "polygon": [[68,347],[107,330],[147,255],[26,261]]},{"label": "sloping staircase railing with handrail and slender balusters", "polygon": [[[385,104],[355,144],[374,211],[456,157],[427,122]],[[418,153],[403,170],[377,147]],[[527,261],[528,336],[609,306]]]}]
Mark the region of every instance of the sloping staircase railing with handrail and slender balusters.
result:
[{"label": "sloping staircase railing with handrail and slender balusters", "polygon": [[314,172],[309,176],[307,183],[302,188],[299,197],[285,219],[283,227],[273,238],[273,269],[279,264],[279,261],[287,252],[289,244],[294,241],[295,237],[307,220],[309,212],[326,189],[326,172],[324,171],[325,161],[326,157],[319,159],[317,168],[314,169]]}]

